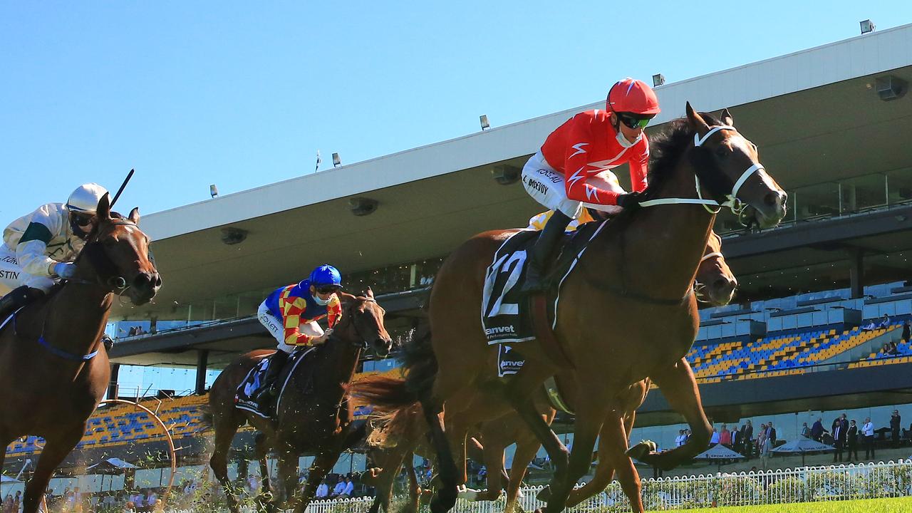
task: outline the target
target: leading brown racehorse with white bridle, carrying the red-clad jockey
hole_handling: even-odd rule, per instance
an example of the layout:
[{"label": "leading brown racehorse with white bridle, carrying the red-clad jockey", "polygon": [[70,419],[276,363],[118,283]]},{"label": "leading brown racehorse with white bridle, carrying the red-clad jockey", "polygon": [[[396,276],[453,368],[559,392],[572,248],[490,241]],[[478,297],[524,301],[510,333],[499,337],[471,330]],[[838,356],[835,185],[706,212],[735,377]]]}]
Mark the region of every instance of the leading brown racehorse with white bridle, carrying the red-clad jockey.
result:
[{"label": "leading brown racehorse with white bridle, carrying the red-clad jockey", "polygon": [[433,513],[452,508],[466,481],[466,434],[510,407],[523,416],[554,464],[549,513],[565,508],[571,488],[591,463],[606,415],[618,409],[619,397],[633,383],[650,377],[692,432],[688,444],[648,452],[641,461],[671,468],[708,444],[710,424],[684,355],[700,325],[691,286],[715,213],[694,204],[700,201],[694,196],[730,204],[742,220],[761,228],[782,220],[787,199],[757,161],[756,147],[732,122],[727,110],[720,122],[688,104],[687,117],[671,121],[666,137],[653,143],[657,158],[644,204],[655,206],[609,222],[565,280],[555,336],[571,362],[568,387],[586,391],[576,404],[572,454],[532,401],[541,383],[562,369],[540,345],[530,343],[523,346],[522,370],[503,383],[497,378],[497,348],[487,344],[482,331],[485,270],[514,232],[475,236],[443,263],[430,294],[430,344],[424,338],[423,344],[407,345],[406,381],[389,382],[372,400],[389,409],[421,403],[440,471]]}]

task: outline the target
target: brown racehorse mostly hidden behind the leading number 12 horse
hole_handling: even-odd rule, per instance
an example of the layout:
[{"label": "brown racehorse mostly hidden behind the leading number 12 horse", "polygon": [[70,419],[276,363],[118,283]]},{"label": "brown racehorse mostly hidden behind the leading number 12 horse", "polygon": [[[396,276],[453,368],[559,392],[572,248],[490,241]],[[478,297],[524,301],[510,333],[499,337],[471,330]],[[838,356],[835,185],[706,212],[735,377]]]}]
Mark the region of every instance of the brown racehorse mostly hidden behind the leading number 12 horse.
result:
[{"label": "brown racehorse mostly hidden behind the leading number 12 horse", "polygon": [[[694,289],[700,291],[698,296],[702,298],[701,300],[712,306],[724,306],[731,301],[737,285],[738,280],[731,273],[731,269],[722,256],[721,237],[713,232],[710,234],[710,240],[707,243],[703,257],[700,259],[700,267],[697,268]],[[368,378],[368,380],[370,379]],[[620,401],[621,411],[612,411],[612,414],[609,414],[609,417],[617,414],[623,417],[625,426],[625,435],[622,438],[623,444],[619,443],[621,438],[614,435],[612,430],[607,427],[607,424],[603,426],[602,437],[599,438],[599,459],[596,476],[591,482],[586,483],[586,486],[576,488],[571,492],[567,506],[573,507],[605,489],[614,476],[615,467],[619,466],[621,471],[618,472],[618,477],[624,481],[624,490],[626,492],[629,491],[630,504],[634,505],[634,509],[637,510],[636,505],[641,502],[639,497],[639,477],[636,468],[631,465],[630,458],[625,452],[627,451],[627,439],[633,427],[637,407],[646,399],[648,386],[648,380],[637,382],[631,386]],[[539,394],[536,399],[536,407],[539,414],[543,415],[545,422],[551,424],[555,411],[544,393]],[[409,419],[410,422],[402,422],[404,419]],[[391,421],[392,419],[389,420]],[[391,439],[389,443],[395,446],[388,450],[378,451],[378,455],[375,456],[378,460],[376,463],[378,463],[381,470],[386,468],[398,470],[403,455],[405,455],[405,461],[402,463],[408,466],[410,464],[409,451],[417,450],[421,455],[425,455],[430,451],[430,449],[423,447],[426,444],[419,444],[418,447],[413,447],[412,445],[414,444],[409,445],[408,443],[409,440],[414,442],[424,440],[426,429],[418,424],[422,423],[420,414],[414,414],[413,412],[411,415],[401,415],[398,420],[398,425],[390,423],[384,426],[384,429],[388,431],[388,433],[384,434],[384,438],[389,437]],[[378,422],[378,424],[382,424],[382,422]],[[513,466],[511,466],[510,473],[507,476],[504,511],[509,513],[516,506],[516,499],[518,498],[519,488],[522,486],[526,469],[532,462],[541,443],[534,433],[528,429],[523,419],[515,412],[482,423],[478,431],[479,433],[476,437],[481,441],[481,446],[469,445],[468,448],[470,451],[474,449],[474,452],[480,454],[472,455],[472,459],[479,462],[483,461],[487,467],[488,488],[478,493],[469,492],[464,494],[463,497],[471,500],[496,500],[499,498],[502,494],[503,476],[506,475],[506,469],[503,467],[503,451],[507,446],[516,444],[513,453]],[[614,444],[611,442],[614,442]],[[414,474],[413,469],[407,468],[407,472],[409,473],[409,478]],[[371,513],[376,513],[379,508],[389,510],[389,499],[391,498],[392,482],[395,475],[396,472],[394,471],[375,472],[374,475],[370,476],[371,486],[377,488],[377,497],[371,508]],[[415,508],[416,497],[414,497],[414,494],[417,494],[418,490],[412,487],[409,491],[412,494],[409,507]],[[545,497],[548,497],[548,493],[543,492],[539,497],[544,500]]]}]

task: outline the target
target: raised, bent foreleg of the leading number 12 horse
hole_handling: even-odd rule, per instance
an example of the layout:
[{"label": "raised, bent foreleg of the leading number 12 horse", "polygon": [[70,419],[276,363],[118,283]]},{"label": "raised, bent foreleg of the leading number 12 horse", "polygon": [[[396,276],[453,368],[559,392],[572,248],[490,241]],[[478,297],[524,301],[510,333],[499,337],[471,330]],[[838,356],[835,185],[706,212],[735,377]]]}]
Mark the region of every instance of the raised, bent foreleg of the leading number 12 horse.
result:
[{"label": "raised, bent foreleg of the leading number 12 horse", "polygon": [[710,445],[712,426],[706,418],[706,412],[703,411],[697,380],[694,379],[687,360],[682,358],[674,365],[654,372],[649,377],[658,384],[658,388],[668,400],[668,405],[684,415],[690,426],[691,436],[686,444],[663,453],[647,452],[648,447],[639,444],[628,450],[627,455],[643,463],[656,465],[662,470],[671,470],[706,450]]}]

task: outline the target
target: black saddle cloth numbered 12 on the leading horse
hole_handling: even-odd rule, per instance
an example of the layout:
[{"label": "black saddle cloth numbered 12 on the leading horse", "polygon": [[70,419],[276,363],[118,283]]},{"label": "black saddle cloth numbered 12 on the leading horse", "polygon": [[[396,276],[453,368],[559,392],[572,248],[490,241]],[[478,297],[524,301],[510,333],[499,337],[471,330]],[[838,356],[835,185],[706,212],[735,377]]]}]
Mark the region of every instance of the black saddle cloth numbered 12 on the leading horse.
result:
[{"label": "black saddle cloth numbered 12 on the leading horse", "polygon": [[[580,225],[575,232],[564,237],[560,255],[548,269],[547,282],[550,284],[548,298],[548,319],[552,328],[556,322],[560,302],[560,288],[570,276],[586,251],[586,247],[605,225],[605,221]],[[494,253],[493,263],[484,277],[482,291],[482,327],[489,344],[516,344],[535,338],[530,303],[520,294],[526,273],[526,252],[538,239],[536,230],[520,230]],[[515,348],[513,348],[515,350]],[[505,356],[510,350],[502,350]],[[503,359],[502,359],[503,360]]]}]

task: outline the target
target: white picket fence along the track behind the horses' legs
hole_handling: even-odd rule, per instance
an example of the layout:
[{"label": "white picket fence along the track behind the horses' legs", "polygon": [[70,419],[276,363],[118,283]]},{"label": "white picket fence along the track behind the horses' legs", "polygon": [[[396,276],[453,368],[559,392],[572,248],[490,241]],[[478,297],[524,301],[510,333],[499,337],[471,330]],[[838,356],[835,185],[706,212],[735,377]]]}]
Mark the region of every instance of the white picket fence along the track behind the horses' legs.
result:
[{"label": "white picket fence along the track behind the horses' legs", "polygon": [[[535,495],[543,487],[523,487],[520,504],[534,511],[544,503]],[[712,508],[846,500],[856,498],[912,496],[912,460],[868,465],[803,466],[759,473],[711,474],[648,479],[642,482],[643,505],[648,510]],[[313,502],[308,513],[366,513],[372,499],[353,498]],[[503,511],[504,499],[470,502],[459,499],[458,513],[495,513]],[[426,510],[426,508],[424,509]],[[629,511],[627,497],[617,481],[605,491],[568,511],[608,513]],[[173,513],[194,513],[191,509]],[[202,513],[202,510],[199,512]],[[253,508],[244,513],[255,513]]]}]

